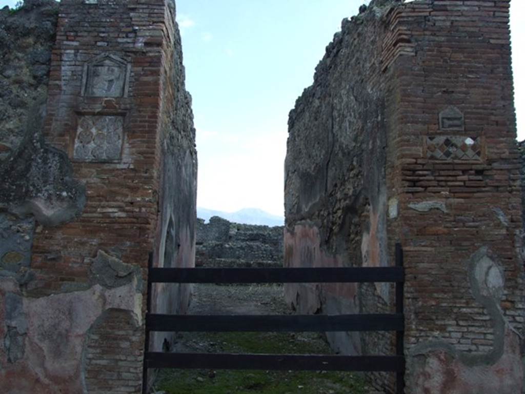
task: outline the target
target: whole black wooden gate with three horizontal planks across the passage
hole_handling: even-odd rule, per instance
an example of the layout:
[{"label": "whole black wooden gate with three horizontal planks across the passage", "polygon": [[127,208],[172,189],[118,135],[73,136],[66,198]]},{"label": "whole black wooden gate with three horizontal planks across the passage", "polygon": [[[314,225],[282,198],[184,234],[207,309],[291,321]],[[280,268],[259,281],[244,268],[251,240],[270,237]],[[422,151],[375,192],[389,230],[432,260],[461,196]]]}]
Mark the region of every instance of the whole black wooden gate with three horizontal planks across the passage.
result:
[{"label": "whole black wooden gate with three horizontal planks across the passage", "polygon": [[[150,259],[151,260],[151,259]],[[344,268],[152,268],[143,392],[148,368],[262,369],[396,372],[396,393],[404,392],[403,251],[396,244],[395,267]],[[159,315],[150,313],[152,283],[395,283],[394,314],[358,315]],[[396,331],[392,356],[326,356],[166,353],[149,351],[151,331]]]}]

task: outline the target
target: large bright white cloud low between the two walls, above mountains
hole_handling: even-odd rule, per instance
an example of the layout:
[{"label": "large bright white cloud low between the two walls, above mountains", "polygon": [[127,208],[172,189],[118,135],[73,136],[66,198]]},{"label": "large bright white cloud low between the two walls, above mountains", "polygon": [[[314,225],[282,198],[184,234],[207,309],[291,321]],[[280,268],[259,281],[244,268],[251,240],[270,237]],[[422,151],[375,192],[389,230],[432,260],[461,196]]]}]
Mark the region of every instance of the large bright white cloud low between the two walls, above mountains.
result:
[{"label": "large bright white cloud low between the two walls, above mountains", "polygon": [[197,205],[230,212],[257,207],[282,215],[286,127],[266,123],[212,138],[197,141]]}]

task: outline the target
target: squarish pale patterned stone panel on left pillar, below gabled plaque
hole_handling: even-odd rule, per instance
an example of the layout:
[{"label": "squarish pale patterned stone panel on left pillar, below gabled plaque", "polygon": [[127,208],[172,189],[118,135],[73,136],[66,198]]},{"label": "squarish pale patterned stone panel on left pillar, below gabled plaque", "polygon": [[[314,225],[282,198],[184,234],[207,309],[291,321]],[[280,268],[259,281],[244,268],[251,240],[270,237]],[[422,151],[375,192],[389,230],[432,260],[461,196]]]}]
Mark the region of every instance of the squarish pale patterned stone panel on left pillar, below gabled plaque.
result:
[{"label": "squarish pale patterned stone panel on left pillar, below gabled plaque", "polygon": [[95,162],[120,160],[123,123],[120,116],[79,117],[73,158]]}]

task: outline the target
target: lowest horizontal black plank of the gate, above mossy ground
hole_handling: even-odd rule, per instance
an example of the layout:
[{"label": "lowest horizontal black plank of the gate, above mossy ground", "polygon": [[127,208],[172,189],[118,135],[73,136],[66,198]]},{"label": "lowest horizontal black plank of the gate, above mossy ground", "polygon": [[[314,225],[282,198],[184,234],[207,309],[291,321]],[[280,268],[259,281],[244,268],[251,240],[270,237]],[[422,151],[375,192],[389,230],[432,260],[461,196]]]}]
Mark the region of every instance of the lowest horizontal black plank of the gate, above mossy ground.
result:
[{"label": "lowest horizontal black plank of the gate, above mossy ground", "polygon": [[148,368],[261,369],[294,371],[400,371],[399,356],[311,356],[161,353],[145,354]]}]

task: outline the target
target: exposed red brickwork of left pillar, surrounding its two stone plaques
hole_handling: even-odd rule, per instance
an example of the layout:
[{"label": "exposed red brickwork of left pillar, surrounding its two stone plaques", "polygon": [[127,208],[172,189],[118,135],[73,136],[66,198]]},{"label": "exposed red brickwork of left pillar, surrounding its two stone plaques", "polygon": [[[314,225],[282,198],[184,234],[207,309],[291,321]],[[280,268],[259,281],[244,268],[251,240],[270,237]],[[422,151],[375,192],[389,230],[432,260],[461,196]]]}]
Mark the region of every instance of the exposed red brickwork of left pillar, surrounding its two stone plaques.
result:
[{"label": "exposed red brickwork of left pillar, surrounding its two stone plaques", "polygon": [[[87,204],[78,220],[35,236],[32,266],[40,278],[35,290],[53,292],[65,283],[86,282],[87,263],[98,249],[117,248],[122,260],[148,264],[159,189],[164,8],[163,1],[61,4],[45,137],[72,159],[75,177],[87,185]],[[130,65],[127,97],[82,95],[86,62],[101,54]],[[75,158],[79,123],[95,116],[122,119],[121,158]]]}]

